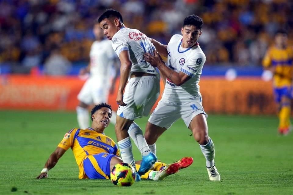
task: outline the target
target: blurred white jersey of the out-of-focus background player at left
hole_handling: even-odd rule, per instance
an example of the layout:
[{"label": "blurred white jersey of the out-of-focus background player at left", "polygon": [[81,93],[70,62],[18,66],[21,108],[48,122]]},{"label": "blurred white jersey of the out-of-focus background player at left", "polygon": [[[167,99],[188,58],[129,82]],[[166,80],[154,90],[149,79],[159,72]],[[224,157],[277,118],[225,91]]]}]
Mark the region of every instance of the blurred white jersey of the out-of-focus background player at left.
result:
[{"label": "blurred white jersey of the out-of-focus background player at left", "polygon": [[110,79],[111,69],[115,53],[111,41],[102,40],[92,43],[90,56],[90,73],[94,77],[106,77]]}]

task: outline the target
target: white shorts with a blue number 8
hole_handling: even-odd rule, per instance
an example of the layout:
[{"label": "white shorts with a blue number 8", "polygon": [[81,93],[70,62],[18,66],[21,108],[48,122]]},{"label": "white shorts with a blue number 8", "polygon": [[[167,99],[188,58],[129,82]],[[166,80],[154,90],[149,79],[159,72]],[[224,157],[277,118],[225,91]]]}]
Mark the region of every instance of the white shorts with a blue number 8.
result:
[{"label": "white shorts with a blue number 8", "polygon": [[204,114],[205,117],[208,118],[208,115],[204,112],[204,108],[199,101],[168,103],[160,100],[157,107],[150,115],[149,122],[168,129],[181,117],[188,128],[191,120],[199,114]]}]

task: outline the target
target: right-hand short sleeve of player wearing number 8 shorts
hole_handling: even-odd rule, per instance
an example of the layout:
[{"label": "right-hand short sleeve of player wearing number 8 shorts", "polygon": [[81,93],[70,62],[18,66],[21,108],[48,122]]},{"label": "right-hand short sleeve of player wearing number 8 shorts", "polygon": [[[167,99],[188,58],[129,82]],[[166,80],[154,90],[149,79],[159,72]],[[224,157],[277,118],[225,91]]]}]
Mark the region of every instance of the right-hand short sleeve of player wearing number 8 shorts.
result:
[{"label": "right-hand short sleeve of player wearing number 8 shorts", "polygon": [[205,59],[206,57],[203,54],[197,54],[193,58],[188,59],[186,62],[184,58],[181,58],[179,59],[179,63],[182,65],[180,71],[192,78],[197,74],[198,70],[202,68]]}]

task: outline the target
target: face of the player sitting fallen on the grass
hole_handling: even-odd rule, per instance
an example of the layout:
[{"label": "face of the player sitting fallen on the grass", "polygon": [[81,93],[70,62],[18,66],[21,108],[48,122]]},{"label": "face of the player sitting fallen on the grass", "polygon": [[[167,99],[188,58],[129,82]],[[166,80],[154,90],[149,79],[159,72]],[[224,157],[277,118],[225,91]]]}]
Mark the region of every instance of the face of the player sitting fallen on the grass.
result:
[{"label": "face of the player sitting fallen on the grass", "polygon": [[106,128],[110,124],[112,112],[107,107],[102,107],[92,115],[92,122],[100,128]]}]

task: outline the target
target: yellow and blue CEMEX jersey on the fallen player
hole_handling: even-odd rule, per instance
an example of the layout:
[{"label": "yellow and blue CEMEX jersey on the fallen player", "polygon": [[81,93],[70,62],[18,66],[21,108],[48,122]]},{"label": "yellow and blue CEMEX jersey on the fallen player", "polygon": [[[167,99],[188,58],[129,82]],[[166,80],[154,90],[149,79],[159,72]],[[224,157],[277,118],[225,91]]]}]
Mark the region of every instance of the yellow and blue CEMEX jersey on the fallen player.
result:
[{"label": "yellow and blue CEMEX jersey on the fallen player", "polygon": [[64,135],[58,147],[64,150],[71,147],[79,167],[79,179],[86,178],[83,161],[87,156],[99,153],[120,155],[117,145],[110,137],[97,133],[91,128],[71,129]]}]

